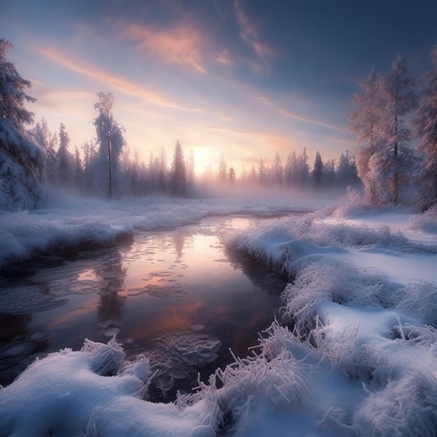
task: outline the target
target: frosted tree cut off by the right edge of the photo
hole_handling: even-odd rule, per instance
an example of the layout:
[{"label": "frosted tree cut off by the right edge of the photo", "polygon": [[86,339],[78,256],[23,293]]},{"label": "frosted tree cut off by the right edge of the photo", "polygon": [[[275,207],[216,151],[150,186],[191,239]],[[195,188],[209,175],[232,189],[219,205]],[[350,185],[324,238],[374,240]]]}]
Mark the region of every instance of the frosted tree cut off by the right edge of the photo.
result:
[{"label": "frosted tree cut off by the right edge of the photo", "polygon": [[437,204],[437,47],[431,52],[436,68],[425,73],[425,87],[413,124],[420,142],[417,151],[422,155],[419,176],[420,200],[425,208]]}]

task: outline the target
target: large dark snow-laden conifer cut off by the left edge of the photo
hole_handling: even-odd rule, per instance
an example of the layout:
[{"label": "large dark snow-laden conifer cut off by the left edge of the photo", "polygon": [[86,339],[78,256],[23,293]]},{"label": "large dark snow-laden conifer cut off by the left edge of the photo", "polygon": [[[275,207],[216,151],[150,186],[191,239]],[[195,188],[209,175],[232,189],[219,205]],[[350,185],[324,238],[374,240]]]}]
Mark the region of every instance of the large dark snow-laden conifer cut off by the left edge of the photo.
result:
[{"label": "large dark snow-laden conifer cut off by the left edge of the photo", "polygon": [[12,43],[0,38],[0,209],[34,208],[45,200],[43,149],[29,138],[26,126],[34,114],[25,103],[31,87],[7,60]]}]

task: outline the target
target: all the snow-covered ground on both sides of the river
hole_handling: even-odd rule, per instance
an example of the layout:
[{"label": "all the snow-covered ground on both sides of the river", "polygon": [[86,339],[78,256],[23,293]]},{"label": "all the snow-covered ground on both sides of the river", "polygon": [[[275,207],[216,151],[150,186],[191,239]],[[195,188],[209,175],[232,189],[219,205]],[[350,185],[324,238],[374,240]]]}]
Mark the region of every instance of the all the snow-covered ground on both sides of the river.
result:
[{"label": "all the snow-covered ground on both sides of the river", "polygon": [[[320,206],[65,202],[1,215],[0,265],[208,215]],[[341,210],[282,217],[225,237],[294,278],[281,320],[251,357],[235,357],[175,403],[151,403],[145,357],[129,362],[115,340],[85,341],[81,351],[34,362],[0,390],[0,436],[435,436],[437,210]]]}]

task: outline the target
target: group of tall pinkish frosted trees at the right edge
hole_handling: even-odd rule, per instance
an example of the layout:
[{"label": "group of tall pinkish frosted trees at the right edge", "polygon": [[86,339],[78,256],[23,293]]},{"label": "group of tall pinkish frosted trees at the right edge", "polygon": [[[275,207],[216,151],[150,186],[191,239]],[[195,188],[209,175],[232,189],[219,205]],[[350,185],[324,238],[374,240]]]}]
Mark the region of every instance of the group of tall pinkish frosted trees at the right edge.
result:
[{"label": "group of tall pinkish frosted trees at the right edge", "polygon": [[[437,67],[437,47],[431,52]],[[411,77],[400,55],[388,73],[372,70],[359,84],[348,113],[360,146],[357,172],[371,204],[408,197],[422,209],[437,203],[437,68]]]}]

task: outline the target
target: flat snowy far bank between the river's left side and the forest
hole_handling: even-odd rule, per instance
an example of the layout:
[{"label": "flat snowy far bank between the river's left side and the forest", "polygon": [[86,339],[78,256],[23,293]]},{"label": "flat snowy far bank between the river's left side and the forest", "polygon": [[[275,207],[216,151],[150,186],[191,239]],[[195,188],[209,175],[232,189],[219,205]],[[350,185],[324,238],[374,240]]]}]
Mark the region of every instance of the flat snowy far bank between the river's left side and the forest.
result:
[{"label": "flat snowy far bank between the river's left side and the forest", "polygon": [[174,228],[205,216],[307,212],[326,200],[220,200],[167,197],[99,200],[76,198],[33,211],[0,212],[0,269],[31,255],[56,255],[132,237],[135,230]]}]

